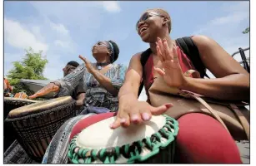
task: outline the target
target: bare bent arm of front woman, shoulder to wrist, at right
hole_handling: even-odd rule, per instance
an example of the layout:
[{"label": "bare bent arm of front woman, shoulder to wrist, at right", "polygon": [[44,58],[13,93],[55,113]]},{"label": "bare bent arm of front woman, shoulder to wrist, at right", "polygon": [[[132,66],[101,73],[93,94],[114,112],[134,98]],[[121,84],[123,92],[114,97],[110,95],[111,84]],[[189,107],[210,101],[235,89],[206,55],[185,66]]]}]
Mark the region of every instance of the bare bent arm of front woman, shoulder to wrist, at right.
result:
[{"label": "bare bent arm of front woman, shoulder to wrist, at right", "polygon": [[248,72],[213,39],[203,36],[192,39],[204,66],[216,79],[187,78],[181,88],[219,100],[249,100]]}]

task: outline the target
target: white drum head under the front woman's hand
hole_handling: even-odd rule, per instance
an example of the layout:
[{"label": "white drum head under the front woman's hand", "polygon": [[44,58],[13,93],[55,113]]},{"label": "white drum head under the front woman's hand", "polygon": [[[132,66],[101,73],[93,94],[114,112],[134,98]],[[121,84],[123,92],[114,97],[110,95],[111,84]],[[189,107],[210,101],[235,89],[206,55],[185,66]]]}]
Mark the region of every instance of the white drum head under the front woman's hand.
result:
[{"label": "white drum head under the front woman's hand", "polygon": [[97,124],[90,125],[78,134],[77,145],[85,149],[103,149],[124,144],[132,144],[138,140],[150,137],[163,128],[166,120],[164,116],[152,116],[150,121],[141,125],[131,125],[127,129],[119,127],[110,129],[114,117],[99,121]]}]

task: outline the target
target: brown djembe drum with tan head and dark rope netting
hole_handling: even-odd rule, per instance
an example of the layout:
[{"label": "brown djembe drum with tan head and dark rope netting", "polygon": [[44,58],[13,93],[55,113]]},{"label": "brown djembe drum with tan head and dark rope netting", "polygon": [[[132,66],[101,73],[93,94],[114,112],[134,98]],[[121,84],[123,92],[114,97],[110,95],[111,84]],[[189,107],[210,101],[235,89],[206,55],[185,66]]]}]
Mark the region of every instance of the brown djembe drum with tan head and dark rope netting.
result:
[{"label": "brown djembe drum with tan head and dark rope netting", "polygon": [[76,115],[75,100],[70,96],[44,100],[11,110],[6,121],[13,124],[18,142],[31,159],[41,162],[58,128]]}]

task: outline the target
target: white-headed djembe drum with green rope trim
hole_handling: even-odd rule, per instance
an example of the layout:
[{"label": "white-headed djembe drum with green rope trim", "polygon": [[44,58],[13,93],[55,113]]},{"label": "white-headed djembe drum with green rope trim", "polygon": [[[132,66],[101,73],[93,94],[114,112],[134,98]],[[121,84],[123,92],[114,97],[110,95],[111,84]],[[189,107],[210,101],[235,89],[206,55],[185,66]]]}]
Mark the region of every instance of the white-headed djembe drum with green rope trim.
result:
[{"label": "white-headed djembe drum with green rope trim", "polygon": [[[106,113],[111,114],[111,113]],[[110,129],[114,117],[92,115],[73,127],[68,158],[73,164],[170,164],[178,121],[152,116],[141,125]],[[78,127],[84,127],[82,131]]]}]

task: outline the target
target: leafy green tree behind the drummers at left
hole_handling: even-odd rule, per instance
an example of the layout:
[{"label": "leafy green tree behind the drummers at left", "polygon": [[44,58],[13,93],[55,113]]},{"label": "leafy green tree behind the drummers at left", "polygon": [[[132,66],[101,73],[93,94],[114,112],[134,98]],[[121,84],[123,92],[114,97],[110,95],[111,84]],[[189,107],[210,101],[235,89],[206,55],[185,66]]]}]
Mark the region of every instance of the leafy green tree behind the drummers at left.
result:
[{"label": "leafy green tree behind the drummers at left", "polygon": [[34,52],[31,47],[25,51],[23,61],[13,61],[13,69],[8,72],[8,81],[14,86],[13,93],[25,91],[32,95],[33,92],[25,85],[21,85],[20,80],[47,80],[43,76],[43,70],[48,60],[42,56],[43,51]]}]

